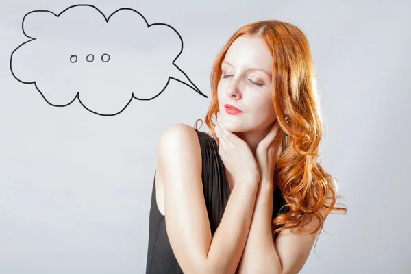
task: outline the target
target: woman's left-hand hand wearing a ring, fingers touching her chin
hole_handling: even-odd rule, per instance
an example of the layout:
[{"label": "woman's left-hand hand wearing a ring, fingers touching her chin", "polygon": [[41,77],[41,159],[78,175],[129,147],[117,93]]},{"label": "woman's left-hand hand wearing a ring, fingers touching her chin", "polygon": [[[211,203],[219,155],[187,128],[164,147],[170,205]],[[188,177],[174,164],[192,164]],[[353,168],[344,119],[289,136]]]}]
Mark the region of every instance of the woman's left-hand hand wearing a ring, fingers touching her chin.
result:
[{"label": "woman's left-hand hand wearing a ring, fingers touching her chin", "polygon": [[238,182],[258,184],[260,171],[253,152],[247,142],[225,129],[219,121],[219,113],[217,113],[216,134],[222,137],[219,138],[219,155],[236,184]]}]

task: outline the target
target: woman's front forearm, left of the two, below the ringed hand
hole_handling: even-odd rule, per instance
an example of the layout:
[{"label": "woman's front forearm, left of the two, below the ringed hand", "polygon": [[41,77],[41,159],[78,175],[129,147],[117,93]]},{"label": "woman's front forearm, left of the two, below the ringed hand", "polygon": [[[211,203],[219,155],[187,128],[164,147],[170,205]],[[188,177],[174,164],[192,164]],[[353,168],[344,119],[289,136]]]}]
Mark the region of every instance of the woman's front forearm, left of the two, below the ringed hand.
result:
[{"label": "woman's front forearm, left of the two, below the ringed hand", "polygon": [[236,182],[208,251],[206,265],[212,273],[235,273],[249,234],[257,191],[257,183]]}]

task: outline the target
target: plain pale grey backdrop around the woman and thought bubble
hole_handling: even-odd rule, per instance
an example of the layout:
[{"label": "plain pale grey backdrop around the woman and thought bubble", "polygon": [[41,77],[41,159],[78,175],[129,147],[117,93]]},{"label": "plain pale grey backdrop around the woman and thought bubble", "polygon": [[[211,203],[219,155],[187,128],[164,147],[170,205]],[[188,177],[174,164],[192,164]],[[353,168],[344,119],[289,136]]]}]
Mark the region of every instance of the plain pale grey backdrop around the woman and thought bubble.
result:
[{"label": "plain pale grey backdrop around the woman and thought bubble", "polygon": [[[410,1],[87,3],[106,16],[133,8],[177,29],[184,49],[176,64],[208,98],[171,80],[157,98],[134,99],[114,116],[77,100],[49,105],[33,84],[14,79],[10,55],[27,40],[27,12],[60,13],[77,2],[2,1],[0,273],[144,273],[161,132],[204,118],[219,49],[238,27],[273,18],[297,25],[310,41],[326,123],[321,163],[348,208],[329,216],[318,256],[312,252],[301,273],[410,273]],[[123,31],[138,35],[133,27]]]}]

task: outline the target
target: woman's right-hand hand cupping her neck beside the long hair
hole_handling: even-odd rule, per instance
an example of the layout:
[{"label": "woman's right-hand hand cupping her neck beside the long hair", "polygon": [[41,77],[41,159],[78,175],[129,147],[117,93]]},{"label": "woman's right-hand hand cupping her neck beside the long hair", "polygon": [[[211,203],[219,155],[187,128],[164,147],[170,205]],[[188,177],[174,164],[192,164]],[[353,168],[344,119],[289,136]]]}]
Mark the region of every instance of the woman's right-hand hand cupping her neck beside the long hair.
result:
[{"label": "woman's right-hand hand cupping her neck beside the long hair", "polygon": [[275,120],[269,134],[258,143],[256,149],[256,160],[263,184],[276,184],[276,182],[274,182],[275,163],[277,162],[279,153],[281,153],[281,146],[275,142],[278,131],[279,124],[278,121]]}]

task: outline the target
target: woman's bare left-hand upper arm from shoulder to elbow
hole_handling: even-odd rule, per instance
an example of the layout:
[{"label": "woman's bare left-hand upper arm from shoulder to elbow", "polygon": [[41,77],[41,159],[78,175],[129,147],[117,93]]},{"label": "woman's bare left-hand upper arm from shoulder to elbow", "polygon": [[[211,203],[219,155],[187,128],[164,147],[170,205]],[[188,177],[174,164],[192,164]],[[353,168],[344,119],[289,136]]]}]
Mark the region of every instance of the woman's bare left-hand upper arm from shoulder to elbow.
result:
[{"label": "woman's bare left-hand upper arm from shoulder to elbow", "polygon": [[166,230],[184,273],[206,266],[212,239],[201,179],[201,147],[194,127],[175,124],[160,136],[158,169],[164,182]]}]

